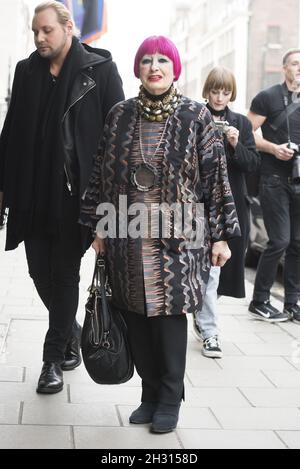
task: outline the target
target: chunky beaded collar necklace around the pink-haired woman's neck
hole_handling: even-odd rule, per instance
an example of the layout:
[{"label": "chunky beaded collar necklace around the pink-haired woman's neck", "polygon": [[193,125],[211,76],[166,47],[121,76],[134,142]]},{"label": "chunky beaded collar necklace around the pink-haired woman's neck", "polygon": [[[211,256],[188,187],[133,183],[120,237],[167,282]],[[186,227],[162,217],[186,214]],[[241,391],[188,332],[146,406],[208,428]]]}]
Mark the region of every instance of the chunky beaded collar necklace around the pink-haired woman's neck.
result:
[{"label": "chunky beaded collar necklace around the pink-haired woman's neck", "polygon": [[164,119],[174,114],[180,98],[181,94],[172,86],[162,99],[152,100],[145,94],[144,88],[141,86],[138,96],[139,111],[142,117],[148,121],[163,122]]}]

